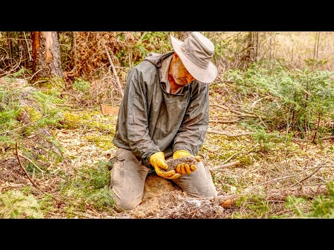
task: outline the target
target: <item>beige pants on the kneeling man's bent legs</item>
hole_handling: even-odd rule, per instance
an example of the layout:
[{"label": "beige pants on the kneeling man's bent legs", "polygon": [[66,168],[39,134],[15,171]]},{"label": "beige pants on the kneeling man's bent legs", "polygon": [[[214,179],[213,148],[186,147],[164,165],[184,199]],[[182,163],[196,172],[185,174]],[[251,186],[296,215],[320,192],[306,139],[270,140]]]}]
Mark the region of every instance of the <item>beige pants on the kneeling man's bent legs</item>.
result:
[{"label": "beige pants on the kneeling man's bent legs", "polygon": [[[132,151],[117,149],[116,157],[116,163],[111,169],[110,193],[116,201],[117,210],[132,210],[143,199],[145,179],[150,169],[141,165]],[[217,195],[212,176],[202,162],[198,163],[195,172],[183,174],[171,181],[193,197],[216,197]]]}]

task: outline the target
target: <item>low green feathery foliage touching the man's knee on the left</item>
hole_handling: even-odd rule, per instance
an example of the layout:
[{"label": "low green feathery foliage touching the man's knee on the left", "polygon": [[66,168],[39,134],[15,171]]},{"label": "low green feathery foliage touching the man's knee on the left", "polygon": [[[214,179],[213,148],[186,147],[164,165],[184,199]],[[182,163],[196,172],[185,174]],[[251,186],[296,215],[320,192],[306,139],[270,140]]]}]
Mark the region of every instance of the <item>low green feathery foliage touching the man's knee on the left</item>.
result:
[{"label": "low green feathery foliage touching the man's knee on the left", "polygon": [[85,210],[86,206],[93,206],[97,210],[113,208],[114,201],[109,195],[110,172],[109,161],[100,161],[97,165],[83,165],[74,178],[67,178],[61,183],[61,192],[72,197],[73,208]]}]

